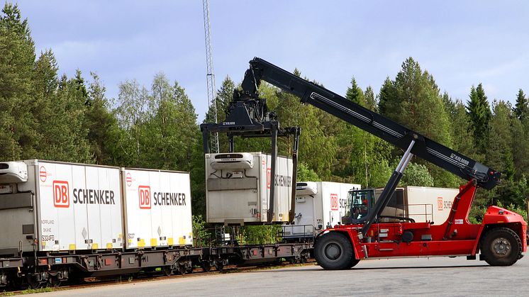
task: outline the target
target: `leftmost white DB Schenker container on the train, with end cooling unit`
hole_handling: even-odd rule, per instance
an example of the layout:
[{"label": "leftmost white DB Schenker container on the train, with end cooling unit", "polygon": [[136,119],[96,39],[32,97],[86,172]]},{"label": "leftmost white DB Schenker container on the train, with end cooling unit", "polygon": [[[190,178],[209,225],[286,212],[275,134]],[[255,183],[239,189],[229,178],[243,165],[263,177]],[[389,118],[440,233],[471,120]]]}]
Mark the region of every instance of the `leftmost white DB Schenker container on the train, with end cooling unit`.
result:
[{"label": "leftmost white DB Schenker container on the train, with end cooling unit", "polygon": [[[0,167],[0,250],[98,250],[123,247],[118,167],[26,160]],[[14,179],[13,169],[27,171]],[[11,178],[9,177],[11,176]],[[35,238],[33,238],[35,237]]]}]

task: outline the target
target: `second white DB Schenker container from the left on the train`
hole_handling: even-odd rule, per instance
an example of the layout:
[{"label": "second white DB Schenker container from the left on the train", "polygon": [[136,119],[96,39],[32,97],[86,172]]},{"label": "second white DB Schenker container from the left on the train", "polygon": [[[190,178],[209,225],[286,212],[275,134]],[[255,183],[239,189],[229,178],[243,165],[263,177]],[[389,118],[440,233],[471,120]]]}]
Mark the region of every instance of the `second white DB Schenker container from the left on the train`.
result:
[{"label": "second white DB Schenker container from the left on the train", "polygon": [[189,173],[122,170],[126,247],[192,245]]}]

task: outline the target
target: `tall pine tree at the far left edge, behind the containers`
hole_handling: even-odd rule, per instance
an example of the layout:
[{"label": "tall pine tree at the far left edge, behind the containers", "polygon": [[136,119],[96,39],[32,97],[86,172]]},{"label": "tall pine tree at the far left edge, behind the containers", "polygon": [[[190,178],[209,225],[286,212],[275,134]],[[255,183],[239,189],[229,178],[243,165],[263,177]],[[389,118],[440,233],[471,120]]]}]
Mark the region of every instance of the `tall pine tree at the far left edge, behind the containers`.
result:
[{"label": "tall pine tree at the far left edge, behind the containers", "polygon": [[17,5],[6,3],[0,14],[0,159],[35,157],[34,65],[28,20]]}]

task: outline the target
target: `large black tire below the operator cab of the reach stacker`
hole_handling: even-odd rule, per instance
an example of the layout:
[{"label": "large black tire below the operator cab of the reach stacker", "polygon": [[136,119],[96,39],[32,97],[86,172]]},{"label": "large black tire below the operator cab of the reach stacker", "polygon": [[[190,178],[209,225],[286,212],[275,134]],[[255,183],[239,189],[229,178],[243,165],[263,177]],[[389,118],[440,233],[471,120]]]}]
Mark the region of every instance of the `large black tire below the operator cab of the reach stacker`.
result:
[{"label": "large black tire below the operator cab of the reach stacker", "polygon": [[358,263],[351,241],[338,232],[328,232],[316,240],[314,257],[323,269],[350,269]]}]

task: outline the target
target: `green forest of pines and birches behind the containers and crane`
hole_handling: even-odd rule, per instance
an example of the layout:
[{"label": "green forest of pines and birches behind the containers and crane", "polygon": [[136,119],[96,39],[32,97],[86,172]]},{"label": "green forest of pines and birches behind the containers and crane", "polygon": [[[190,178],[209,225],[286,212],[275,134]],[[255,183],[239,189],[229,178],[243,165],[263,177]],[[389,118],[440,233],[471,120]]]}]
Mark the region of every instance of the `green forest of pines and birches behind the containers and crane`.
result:
[{"label": "green forest of pines and birches behind the containers and crane", "polygon": [[[97,69],[77,70],[71,77],[59,69],[53,49],[35,52],[27,19],[18,6],[6,3],[0,13],[0,160],[49,159],[187,171],[193,213],[203,215],[199,123],[213,122],[212,108],[199,118],[184,87],[163,72],[149,86],[123,80],[117,98],[108,98]],[[522,213],[527,220],[529,105],[522,89],[513,90],[513,98],[489,101],[484,86],[476,82],[469,86],[467,98],[452,98],[413,57],[402,62],[395,77],[386,77],[378,91],[357,84],[355,76],[362,73],[348,75],[352,78],[347,90],[333,91],[502,172],[499,186],[478,191],[471,221],[479,222],[492,204]],[[219,122],[236,88],[238,82],[223,79],[216,94]],[[262,84],[260,94],[283,127],[301,127],[299,181],[347,181],[366,188],[385,185],[400,150],[317,108],[302,106],[295,96],[274,86]],[[219,139],[221,152],[226,152],[227,138]],[[291,155],[291,142],[279,140],[281,155]],[[236,139],[235,147],[269,151],[270,143]],[[401,186],[457,187],[465,182],[414,158]]]}]

